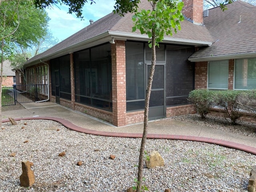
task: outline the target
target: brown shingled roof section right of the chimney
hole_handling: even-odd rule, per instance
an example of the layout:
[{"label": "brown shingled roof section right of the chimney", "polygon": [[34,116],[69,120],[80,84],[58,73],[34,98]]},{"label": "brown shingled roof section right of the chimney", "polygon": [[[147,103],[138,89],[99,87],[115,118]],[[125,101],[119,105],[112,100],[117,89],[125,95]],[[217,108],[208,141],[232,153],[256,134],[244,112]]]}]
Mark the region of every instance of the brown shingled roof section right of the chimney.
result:
[{"label": "brown shingled roof section right of the chimney", "polygon": [[204,25],[214,38],[214,43],[190,56],[191,61],[250,58],[256,56],[256,6],[243,1],[209,10]]}]

